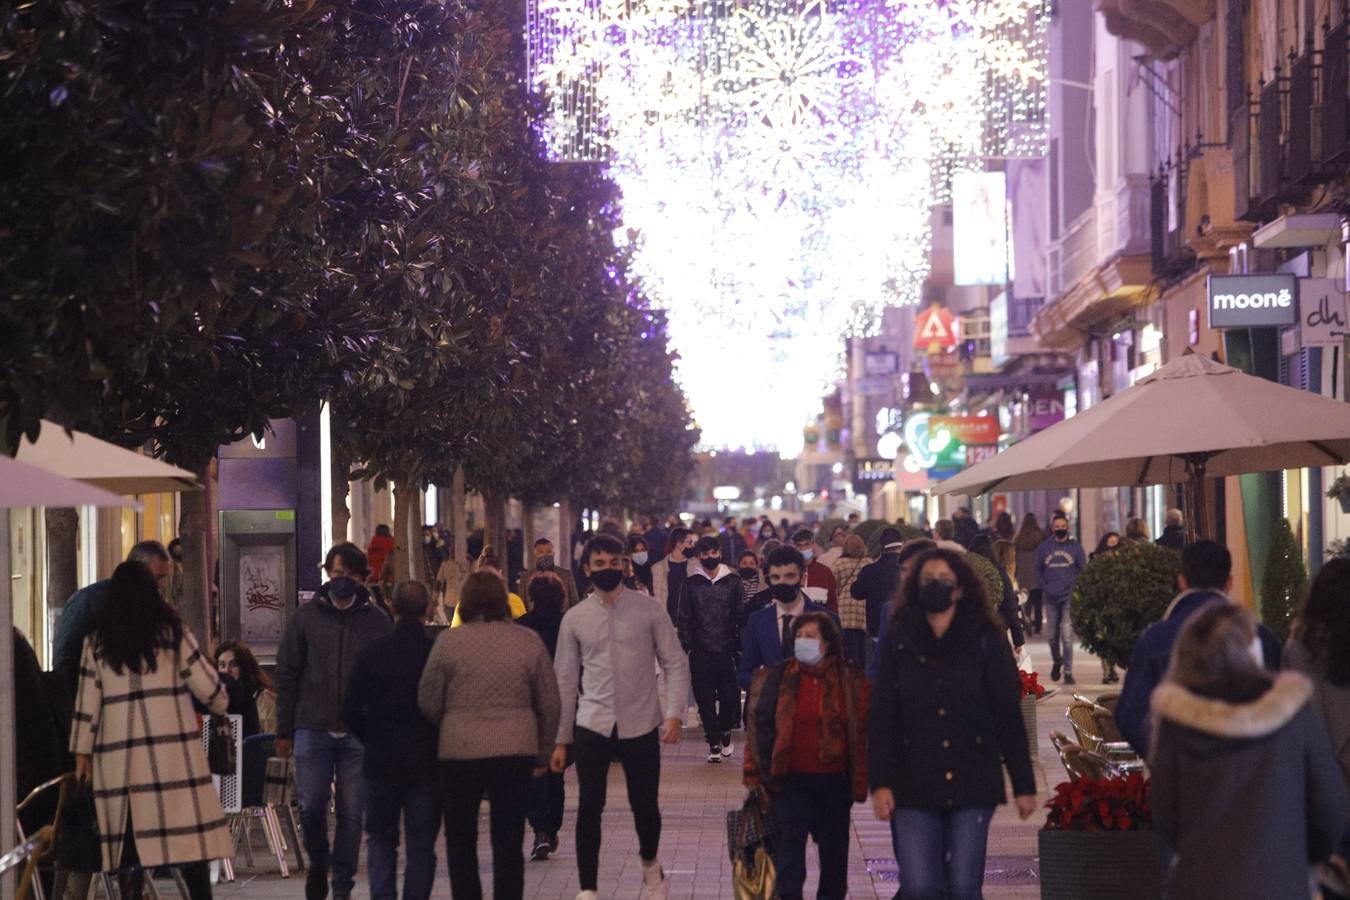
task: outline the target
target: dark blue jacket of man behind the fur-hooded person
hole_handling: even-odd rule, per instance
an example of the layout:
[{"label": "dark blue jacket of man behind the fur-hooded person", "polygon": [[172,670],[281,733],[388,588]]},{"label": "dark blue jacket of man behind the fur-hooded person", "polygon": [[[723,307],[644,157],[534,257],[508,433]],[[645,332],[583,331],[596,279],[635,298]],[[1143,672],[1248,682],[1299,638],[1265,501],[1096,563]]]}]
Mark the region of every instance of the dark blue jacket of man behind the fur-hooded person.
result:
[{"label": "dark blue jacket of man behind the fur-hooded person", "polygon": [[[1120,699],[1115,703],[1115,723],[1120,735],[1141,757],[1149,756],[1149,729],[1153,721],[1149,703],[1153,690],[1162,684],[1168,673],[1172,648],[1181,634],[1181,626],[1210,603],[1228,602],[1231,600],[1220,591],[1183,591],[1168,606],[1162,619],[1143,629],[1143,634],[1134,642],[1130,665],[1125,671],[1125,684],[1120,685]],[[1264,625],[1257,625],[1257,636],[1261,638],[1265,667],[1272,672],[1278,671],[1280,642]]]}]

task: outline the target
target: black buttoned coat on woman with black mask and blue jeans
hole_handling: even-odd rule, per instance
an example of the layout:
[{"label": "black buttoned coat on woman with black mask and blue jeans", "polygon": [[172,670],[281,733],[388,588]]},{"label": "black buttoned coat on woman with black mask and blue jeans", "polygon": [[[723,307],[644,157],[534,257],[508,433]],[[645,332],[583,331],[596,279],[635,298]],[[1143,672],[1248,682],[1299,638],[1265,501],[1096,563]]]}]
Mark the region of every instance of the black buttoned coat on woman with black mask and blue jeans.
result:
[{"label": "black buttoned coat on woman with black mask and blue jeans", "polygon": [[872,788],[890,788],[896,807],[991,807],[1007,799],[1006,766],[1015,795],[1035,793],[1007,638],[988,619],[960,611],[941,638],[922,611],[900,607],[895,615],[872,685]]}]

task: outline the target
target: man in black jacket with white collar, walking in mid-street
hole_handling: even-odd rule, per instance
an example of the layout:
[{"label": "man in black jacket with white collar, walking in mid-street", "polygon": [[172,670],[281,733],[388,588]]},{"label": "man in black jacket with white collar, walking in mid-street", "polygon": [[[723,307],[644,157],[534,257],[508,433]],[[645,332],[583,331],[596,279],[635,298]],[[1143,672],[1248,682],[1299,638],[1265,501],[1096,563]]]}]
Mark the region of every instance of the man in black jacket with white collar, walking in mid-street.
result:
[{"label": "man in black jacket with white collar, walking in mid-street", "polygon": [[694,702],[707,738],[707,761],[732,756],[732,729],[741,721],[736,650],[741,645],[741,576],[722,563],[716,537],[699,538],[698,565],[690,565],[675,615],[679,642],[688,653]]}]

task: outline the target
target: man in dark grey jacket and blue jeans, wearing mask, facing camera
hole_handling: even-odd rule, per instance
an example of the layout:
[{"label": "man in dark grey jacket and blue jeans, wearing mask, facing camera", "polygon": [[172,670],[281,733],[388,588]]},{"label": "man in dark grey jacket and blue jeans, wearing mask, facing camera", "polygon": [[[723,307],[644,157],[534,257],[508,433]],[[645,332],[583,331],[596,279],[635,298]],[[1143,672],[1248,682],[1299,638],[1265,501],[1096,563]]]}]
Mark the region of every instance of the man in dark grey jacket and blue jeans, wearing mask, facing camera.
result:
[{"label": "man in dark grey jacket and blue jeans, wearing mask, facing camera", "polygon": [[[346,900],[356,878],[366,812],[364,750],[342,716],[356,654],[393,630],[362,586],[366,555],[339,544],[324,560],[328,582],[286,623],[277,652],[277,756],[296,756],[296,788],[309,870],[305,900]],[[328,803],[338,784],[338,831],[328,849]]]}]

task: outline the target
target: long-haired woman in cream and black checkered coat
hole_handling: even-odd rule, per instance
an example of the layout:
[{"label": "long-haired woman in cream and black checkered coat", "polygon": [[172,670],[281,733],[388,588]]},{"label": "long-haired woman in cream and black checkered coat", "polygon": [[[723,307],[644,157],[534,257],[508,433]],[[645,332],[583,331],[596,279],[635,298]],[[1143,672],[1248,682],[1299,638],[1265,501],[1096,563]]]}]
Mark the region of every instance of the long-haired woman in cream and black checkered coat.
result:
[{"label": "long-haired woman in cream and black checkered coat", "polygon": [[180,865],[192,900],[209,900],[207,861],[234,854],[193,698],[212,712],[228,706],[150,569],[123,563],[85,638],[70,749],[76,775],[93,781],[104,870],[134,873],[124,900],[140,896],[140,866],[162,865]]}]

